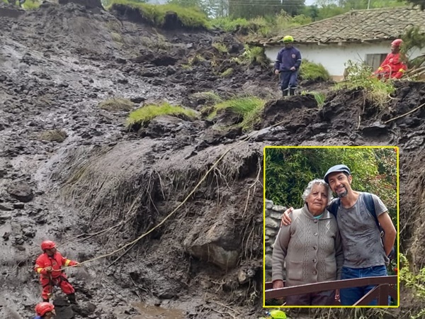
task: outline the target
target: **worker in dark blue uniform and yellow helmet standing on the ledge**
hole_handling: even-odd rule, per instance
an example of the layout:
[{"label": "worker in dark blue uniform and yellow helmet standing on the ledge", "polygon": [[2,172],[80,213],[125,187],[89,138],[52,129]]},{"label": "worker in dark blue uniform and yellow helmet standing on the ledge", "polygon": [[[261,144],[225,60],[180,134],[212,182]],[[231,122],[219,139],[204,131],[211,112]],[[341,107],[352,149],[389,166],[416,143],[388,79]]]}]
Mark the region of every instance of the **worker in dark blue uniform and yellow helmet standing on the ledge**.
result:
[{"label": "worker in dark blue uniform and yellow helmet standing on the ledge", "polygon": [[293,46],[294,38],[285,35],[283,43],[285,47],[280,49],[274,65],[276,74],[280,74],[280,89],[283,96],[295,95],[297,87],[298,70],[301,65],[301,53]]}]

